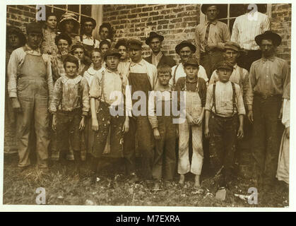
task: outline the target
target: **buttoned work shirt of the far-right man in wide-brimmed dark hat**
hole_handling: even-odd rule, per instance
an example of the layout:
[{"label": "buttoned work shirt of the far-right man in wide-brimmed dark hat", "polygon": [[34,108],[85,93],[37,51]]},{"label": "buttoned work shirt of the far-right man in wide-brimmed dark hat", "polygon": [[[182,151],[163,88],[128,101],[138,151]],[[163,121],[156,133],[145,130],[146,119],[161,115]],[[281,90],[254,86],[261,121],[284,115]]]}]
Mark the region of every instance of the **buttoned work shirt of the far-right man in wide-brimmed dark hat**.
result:
[{"label": "buttoned work shirt of the far-right man in wide-brimmed dark hat", "polygon": [[249,83],[252,94],[283,95],[283,88],[290,83],[287,61],[278,57],[254,61],[251,64]]}]

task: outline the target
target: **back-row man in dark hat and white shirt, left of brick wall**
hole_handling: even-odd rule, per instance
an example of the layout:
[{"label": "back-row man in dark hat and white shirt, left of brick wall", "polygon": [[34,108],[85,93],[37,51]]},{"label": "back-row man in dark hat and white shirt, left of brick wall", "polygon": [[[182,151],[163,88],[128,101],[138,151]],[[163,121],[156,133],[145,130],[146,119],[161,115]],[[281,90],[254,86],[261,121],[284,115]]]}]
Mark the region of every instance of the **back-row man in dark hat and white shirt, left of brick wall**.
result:
[{"label": "back-row man in dark hat and white shirt, left of brick wall", "polygon": [[93,38],[93,30],[95,29],[96,25],[97,23],[95,22],[95,19],[90,17],[83,18],[81,21],[80,41],[84,46],[85,55],[88,57],[90,57],[90,52],[94,48],[99,48],[100,42]]}]

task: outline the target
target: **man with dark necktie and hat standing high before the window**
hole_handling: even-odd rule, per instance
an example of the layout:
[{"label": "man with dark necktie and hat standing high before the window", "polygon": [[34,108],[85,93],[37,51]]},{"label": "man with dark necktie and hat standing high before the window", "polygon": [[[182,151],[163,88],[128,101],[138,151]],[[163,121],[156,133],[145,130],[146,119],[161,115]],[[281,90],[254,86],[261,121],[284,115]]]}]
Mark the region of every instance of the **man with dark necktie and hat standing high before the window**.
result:
[{"label": "man with dark necktie and hat standing high before the window", "polygon": [[230,40],[230,30],[225,23],[217,19],[220,12],[219,4],[203,4],[201,11],[207,20],[196,26],[196,57],[206,69],[208,78],[211,78],[215,64],[223,57],[224,44]]}]

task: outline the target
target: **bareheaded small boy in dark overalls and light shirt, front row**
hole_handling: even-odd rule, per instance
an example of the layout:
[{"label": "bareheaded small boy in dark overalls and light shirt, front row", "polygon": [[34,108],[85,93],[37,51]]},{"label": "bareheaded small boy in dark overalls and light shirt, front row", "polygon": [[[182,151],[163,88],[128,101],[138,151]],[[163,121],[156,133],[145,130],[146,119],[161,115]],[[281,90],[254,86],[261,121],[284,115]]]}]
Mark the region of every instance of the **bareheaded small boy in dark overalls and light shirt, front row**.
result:
[{"label": "bareheaded small boy in dark overalls and light shirt, front row", "polygon": [[[148,119],[156,141],[152,168],[152,177],[156,180],[155,190],[160,188],[162,169],[164,170],[164,179],[169,183],[174,178],[176,165],[175,142],[177,124],[173,124],[172,114],[165,114],[165,109],[170,109],[172,106],[172,86],[169,84],[172,77],[171,73],[172,69],[167,64],[158,67],[158,85],[155,86],[155,92],[153,92],[155,95],[150,95],[148,103]],[[155,109],[158,106],[162,107],[161,114]]]}]

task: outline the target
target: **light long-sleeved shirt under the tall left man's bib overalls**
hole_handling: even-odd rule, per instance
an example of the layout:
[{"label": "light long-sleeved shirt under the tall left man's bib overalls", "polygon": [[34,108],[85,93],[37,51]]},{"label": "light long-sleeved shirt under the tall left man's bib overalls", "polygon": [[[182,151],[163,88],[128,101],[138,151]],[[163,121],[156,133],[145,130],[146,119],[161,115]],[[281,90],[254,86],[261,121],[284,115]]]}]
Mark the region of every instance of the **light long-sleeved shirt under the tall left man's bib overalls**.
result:
[{"label": "light long-sleeved shirt under the tall left man's bib overalls", "polygon": [[[18,97],[17,83],[18,76],[20,76],[20,67],[23,65],[26,54],[32,54],[35,56],[42,56],[47,68],[47,85],[49,92],[49,100],[52,100],[53,81],[52,81],[52,66],[50,63],[49,55],[41,54],[40,49],[32,50],[28,45],[20,47],[11,53],[11,57],[8,61],[7,73],[8,73],[8,94],[9,97]],[[32,69],[34,70],[34,69]]]}]

